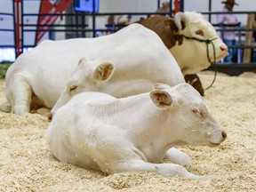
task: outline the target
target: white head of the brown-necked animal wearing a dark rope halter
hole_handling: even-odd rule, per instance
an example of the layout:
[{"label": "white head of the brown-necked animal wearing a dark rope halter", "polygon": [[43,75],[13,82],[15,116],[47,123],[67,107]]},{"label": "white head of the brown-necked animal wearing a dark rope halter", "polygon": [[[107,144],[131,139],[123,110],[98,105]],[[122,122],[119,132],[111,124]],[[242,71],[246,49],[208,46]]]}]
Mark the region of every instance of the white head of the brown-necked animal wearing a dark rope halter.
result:
[{"label": "white head of the brown-necked animal wearing a dark rope halter", "polygon": [[[170,49],[170,52],[179,63],[183,75],[196,74],[200,70],[208,68],[211,62],[214,62],[213,46],[216,61],[221,60],[228,54],[227,45],[222,42],[215,28],[204,19],[202,14],[178,12],[174,15],[173,21],[178,28],[177,33],[183,38],[182,41],[179,40],[179,44]],[[165,25],[168,25],[168,22],[165,22]],[[173,28],[173,22],[170,26]],[[203,40],[203,42],[191,39],[191,37]],[[212,41],[208,44],[209,58],[207,57],[207,44],[204,40]]]}]

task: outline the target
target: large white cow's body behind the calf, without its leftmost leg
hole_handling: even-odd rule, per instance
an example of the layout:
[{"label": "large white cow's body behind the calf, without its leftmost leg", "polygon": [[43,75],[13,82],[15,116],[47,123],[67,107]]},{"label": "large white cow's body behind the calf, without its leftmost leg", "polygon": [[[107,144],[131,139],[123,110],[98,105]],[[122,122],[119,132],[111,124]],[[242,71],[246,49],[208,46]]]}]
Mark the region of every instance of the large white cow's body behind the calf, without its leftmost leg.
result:
[{"label": "large white cow's body behind the calf, without its leftmost leg", "polygon": [[184,82],[179,66],[160,37],[140,24],[132,24],[109,36],[46,40],[20,55],[7,72],[6,84],[12,82],[10,76],[25,74],[33,92],[48,101],[44,103],[46,107],[52,108],[82,57],[114,63],[116,73],[100,91],[116,93],[120,82],[127,84],[128,90],[114,94],[116,97],[148,92],[155,83]]}]

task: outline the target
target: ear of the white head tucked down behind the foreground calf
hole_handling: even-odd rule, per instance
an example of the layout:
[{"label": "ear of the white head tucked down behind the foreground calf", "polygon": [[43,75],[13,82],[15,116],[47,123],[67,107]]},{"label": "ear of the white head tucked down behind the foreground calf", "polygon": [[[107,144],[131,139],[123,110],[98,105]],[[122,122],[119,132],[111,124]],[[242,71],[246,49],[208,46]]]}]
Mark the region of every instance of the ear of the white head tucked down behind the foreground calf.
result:
[{"label": "ear of the white head tucked down behind the foreground calf", "polygon": [[109,62],[101,63],[93,72],[93,77],[98,81],[107,81],[114,74],[115,66]]}]

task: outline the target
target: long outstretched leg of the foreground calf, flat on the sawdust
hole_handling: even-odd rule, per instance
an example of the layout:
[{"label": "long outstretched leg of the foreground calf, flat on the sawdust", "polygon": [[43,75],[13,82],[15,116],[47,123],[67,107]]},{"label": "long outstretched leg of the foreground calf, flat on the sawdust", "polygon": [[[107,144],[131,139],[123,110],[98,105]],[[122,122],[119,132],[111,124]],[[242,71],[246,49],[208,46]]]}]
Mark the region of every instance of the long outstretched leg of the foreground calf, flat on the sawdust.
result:
[{"label": "long outstretched leg of the foreground calf, flat on the sawdust", "polygon": [[188,180],[212,178],[212,176],[200,176],[190,173],[179,164],[151,164],[138,159],[116,164],[115,172],[156,172],[165,177],[180,176]]}]

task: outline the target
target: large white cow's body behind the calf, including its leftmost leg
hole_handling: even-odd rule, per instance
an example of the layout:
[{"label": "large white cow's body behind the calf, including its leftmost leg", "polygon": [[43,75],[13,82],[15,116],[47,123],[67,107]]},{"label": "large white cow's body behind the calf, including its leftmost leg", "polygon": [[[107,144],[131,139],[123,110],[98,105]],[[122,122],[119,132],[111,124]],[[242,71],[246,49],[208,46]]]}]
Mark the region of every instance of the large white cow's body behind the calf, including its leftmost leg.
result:
[{"label": "large white cow's body behind the calf, including its leftmost leg", "polygon": [[[77,67],[78,60],[83,57],[87,61],[80,62],[81,67]],[[104,63],[107,67],[100,67]],[[80,77],[92,83],[86,84],[84,91],[98,90],[117,98],[149,92],[156,83],[185,82],[176,60],[160,37],[140,24],[132,24],[109,36],[47,40],[21,54],[5,78],[6,97],[12,105],[12,113],[24,116],[31,108],[52,108],[68,79],[75,71],[79,73],[77,68],[85,68],[83,72],[87,72],[80,73]],[[115,73],[108,80],[104,74],[112,74],[111,68],[115,68]],[[98,70],[103,76],[92,78],[92,71],[97,74]],[[77,80],[76,76],[74,78]],[[105,85],[100,84],[106,80]]]}]

